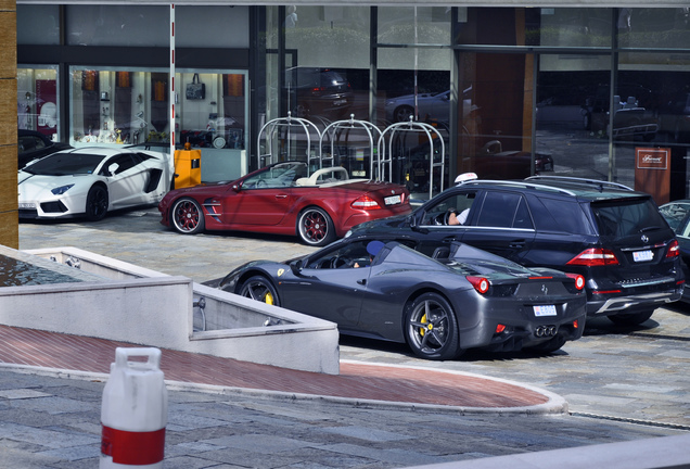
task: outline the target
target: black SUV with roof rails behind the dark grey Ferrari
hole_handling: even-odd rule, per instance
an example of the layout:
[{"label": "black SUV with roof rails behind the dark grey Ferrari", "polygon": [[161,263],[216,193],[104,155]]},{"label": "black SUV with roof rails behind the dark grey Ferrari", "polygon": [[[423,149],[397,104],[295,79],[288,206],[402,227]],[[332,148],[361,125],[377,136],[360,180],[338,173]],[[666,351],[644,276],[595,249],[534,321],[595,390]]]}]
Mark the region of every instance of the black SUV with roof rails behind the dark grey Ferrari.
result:
[{"label": "black SUV with roof rails behind the dark grey Ferrari", "polygon": [[429,255],[458,240],[527,267],[580,274],[588,316],[621,325],[644,322],[656,307],[679,300],[685,284],[678,241],[652,197],[615,182],[470,179],[408,216],[353,232],[409,237]]}]

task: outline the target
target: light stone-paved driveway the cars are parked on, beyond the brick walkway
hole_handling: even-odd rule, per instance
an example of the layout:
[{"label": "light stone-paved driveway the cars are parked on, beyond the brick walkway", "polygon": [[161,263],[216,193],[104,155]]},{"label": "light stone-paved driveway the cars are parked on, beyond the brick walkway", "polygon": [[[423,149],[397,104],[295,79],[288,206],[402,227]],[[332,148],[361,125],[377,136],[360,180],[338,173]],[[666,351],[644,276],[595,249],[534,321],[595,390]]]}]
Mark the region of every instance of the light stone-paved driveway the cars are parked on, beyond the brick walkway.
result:
[{"label": "light stone-paved driveway the cars are parked on, beyond the brick walkway", "polygon": [[[159,223],[154,207],[100,223],[22,223],[20,249],[76,246],[119,261],[183,275],[196,282],[257,258],[285,259],[315,249],[296,238],[238,232],[183,236]],[[341,358],[425,366],[529,383],[566,398],[574,416],[649,428],[690,430],[690,307],[660,308],[640,327],[588,321],[583,339],[550,356],[468,352],[426,362],[404,345],[342,338]]]}]

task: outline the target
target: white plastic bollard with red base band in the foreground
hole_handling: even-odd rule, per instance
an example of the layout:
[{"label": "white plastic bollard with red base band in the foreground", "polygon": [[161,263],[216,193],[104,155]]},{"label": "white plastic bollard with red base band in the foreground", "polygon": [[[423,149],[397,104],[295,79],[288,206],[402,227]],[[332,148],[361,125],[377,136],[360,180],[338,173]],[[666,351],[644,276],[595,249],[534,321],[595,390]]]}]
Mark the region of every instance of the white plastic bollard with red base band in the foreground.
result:
[{"label": "white plastic bollard with red base band in the foreground", "polygon": [[[129,357],[146,357],[130,362]],[[158,348],[115,350],[103,389],[100,468],[163,468],[168,393]]]}]

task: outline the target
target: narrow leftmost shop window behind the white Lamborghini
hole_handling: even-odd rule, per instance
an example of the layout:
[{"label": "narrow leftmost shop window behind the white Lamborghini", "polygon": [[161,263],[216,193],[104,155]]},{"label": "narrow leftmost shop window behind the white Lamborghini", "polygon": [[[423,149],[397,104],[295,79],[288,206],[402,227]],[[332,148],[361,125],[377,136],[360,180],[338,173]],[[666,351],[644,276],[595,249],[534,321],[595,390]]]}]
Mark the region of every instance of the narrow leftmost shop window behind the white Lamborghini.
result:
[{"label": "narrow leftmost shop window behind the white Lamborghini", "polygon": [[58,67],[17,67],[17,128],[60,138]]}]

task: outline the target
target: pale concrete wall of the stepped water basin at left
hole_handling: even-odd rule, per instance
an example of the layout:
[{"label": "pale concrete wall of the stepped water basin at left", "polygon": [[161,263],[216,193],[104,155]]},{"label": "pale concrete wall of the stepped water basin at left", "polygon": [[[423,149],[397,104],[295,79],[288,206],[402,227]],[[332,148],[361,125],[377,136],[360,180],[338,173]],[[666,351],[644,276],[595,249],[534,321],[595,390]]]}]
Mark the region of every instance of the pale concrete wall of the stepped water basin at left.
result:
[{"label": "pale concrete wall of the stepped water basin at left", "polygon": [[[81,282],[0,288],[0,324],[208,354],[330,375],[340,372],[337,326],[74,248],[18,251]],[[59,262],[71,259],[79,269]],[[204,297],[209,325],[194,331]],[[227,315],[230,319],[222,319]],[[269,321],[270,326],[265,326]],[[276,325],[273,325],[276,324]],[[225,329],[221,329],[225,328]],[[208,329],[208,328],[207,328]]]}]

